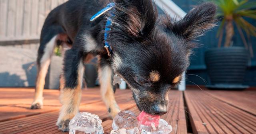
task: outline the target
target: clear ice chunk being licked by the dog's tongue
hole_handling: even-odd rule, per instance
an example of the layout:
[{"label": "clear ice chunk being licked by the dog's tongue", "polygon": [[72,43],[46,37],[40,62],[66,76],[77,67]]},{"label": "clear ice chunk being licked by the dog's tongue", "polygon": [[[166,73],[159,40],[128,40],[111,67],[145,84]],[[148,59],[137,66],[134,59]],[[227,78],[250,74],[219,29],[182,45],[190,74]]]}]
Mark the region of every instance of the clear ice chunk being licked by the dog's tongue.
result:
[{"label": "clear ice chunk being licked by the dog's tongue", "polygon": [[[153,120],[159,120],[159,124],[155,124],[154,122],[156,121]],[[140,120],[139,129],[141,134],[169,134],[172,132],[172,126],[165,120],[151,116],[144,116],[144,118]]]}]

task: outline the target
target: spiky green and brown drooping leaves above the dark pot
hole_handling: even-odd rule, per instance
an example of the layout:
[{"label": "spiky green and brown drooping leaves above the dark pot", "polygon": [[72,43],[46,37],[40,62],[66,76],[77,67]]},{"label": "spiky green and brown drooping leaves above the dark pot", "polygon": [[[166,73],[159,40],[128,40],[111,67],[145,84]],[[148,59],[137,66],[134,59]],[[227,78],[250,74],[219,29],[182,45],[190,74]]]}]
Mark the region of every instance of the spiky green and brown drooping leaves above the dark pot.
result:
[{"label": "spiky green and brown drooping leaves above the dark pot", "polygon": [[[244,19],[244,17],[256,19],[256,2],[249,0],[203,0],[208,2],[213,2],[218,6],[216,17],[221,20],[217,37],[219,37],[219,44],[222,42],[224,26],[226,22],[232,21],[236,24],[238,32],[244,42],[244,45],[248,47],[250,43],[246,42],[250,36],[256,36],[256,27],[250,24]],[[244,32],[246,35],[244,34]],[[249,47],[250,49],[250,47]]]}]

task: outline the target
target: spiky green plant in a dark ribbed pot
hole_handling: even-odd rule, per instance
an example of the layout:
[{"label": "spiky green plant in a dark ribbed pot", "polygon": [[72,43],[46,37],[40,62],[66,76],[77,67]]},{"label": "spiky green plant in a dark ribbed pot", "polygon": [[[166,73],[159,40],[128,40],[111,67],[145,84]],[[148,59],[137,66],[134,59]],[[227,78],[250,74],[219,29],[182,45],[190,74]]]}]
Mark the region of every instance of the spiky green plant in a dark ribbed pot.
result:
[{"label": "spiky green plant in a dark ribbed pot", "polygon": [[[218,30],[218,48],[205,53],[207,71],[210,76],[209,88],[244,89],[244,75],[252,55],[250,36],[256,36],[256,27],[244,18],[256,19],[256,2],[248,0],[211,0],[218,6],[217,18],[221,20]],[[244,43],[244,47],[232,46],[234,27]],[[224,44],[222,38],[225,35]],[[247,40],[246,40],[246,37]]]}]

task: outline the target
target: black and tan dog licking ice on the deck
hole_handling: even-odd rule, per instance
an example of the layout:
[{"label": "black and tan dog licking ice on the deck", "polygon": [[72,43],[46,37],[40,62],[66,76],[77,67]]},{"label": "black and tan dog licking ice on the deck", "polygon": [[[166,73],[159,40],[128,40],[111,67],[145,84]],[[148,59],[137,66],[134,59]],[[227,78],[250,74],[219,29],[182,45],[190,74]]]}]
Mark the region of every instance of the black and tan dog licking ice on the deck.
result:
[{"label": "black and tan dog licking ice on the deck", "polygon": [[[90,22],[90,18],[113,2],[114,7]],[[216,6],[196,6],[181,20],[158,15],[151,0],[69,0],[52,10],[44,22],[38,49],[38,74],[32,109],[42,108],[45,76],[58,44],[72,45],[64,56],[60,77],[62,108],[56,125],[68,131],[81,99],[84,62],[98,56],[102,99],[110,116],[120,109],[114,99],[112,76],[118,74],[132,90],[139,110],[163,115],[168,110],[168,91],[182,79],[189,66],[194,39],[215,24]],[[111,30],[106,23],[111,20]],[[104,45],[108,42],[111,51]]]}]

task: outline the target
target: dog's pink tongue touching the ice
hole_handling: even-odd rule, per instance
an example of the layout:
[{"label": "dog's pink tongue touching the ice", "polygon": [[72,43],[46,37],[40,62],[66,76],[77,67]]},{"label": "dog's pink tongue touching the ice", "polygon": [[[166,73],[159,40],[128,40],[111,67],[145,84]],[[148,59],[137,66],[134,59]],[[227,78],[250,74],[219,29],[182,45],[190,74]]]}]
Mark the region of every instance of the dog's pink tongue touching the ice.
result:
[{"label": "dog's pink tongue touching the ice", "polygon": [[157,127],[159,124],[160,115],[151,115],[142,111],[140,112],[137,119],[143,125],[151,126],[152,123],[154,123],[155,126]]}]

